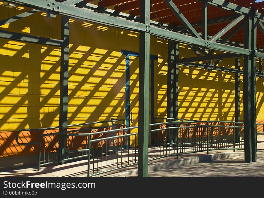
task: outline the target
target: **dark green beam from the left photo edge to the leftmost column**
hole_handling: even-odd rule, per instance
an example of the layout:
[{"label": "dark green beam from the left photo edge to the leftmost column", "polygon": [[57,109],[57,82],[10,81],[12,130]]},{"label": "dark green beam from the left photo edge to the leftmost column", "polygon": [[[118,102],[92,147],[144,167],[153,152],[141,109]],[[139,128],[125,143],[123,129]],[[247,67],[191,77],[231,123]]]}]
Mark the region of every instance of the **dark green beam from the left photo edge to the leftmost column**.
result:
[{"label": "dark green beam from the left photo edge to the leftmost column", "polygon": [[4,30],[0,30],[0,38],[6,38],[10,40],[23,41],[23,42],[29,42],[29,43],[51,45],[51,46],[56,46],[56,47],[67,46],[67,43],[65,43],[65,41],[62,41],[62,40],[15,33],[15,32],[8,32]]}]

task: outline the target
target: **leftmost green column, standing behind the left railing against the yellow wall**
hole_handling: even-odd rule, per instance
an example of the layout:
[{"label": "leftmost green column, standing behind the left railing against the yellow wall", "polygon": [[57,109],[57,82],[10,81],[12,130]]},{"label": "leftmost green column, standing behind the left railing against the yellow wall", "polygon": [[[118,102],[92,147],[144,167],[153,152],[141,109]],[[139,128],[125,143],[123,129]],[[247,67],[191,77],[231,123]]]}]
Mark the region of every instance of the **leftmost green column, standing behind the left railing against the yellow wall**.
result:
[{"label": "leftmost green column, standing behind the left railing against the yellow wall", "polygon": [[[60,126],[67,125],[68,114],[68,79],[69,79],[69,18],[61,17],[61,40],[67,43],[67,47],[61,47],[61,71],[60,71]],[[60,131],[65,131],[67,128],[60,128]],[[59,160],[64,160],[66,157],[64,148],[65,134],[61,134],[59,142]]]}]

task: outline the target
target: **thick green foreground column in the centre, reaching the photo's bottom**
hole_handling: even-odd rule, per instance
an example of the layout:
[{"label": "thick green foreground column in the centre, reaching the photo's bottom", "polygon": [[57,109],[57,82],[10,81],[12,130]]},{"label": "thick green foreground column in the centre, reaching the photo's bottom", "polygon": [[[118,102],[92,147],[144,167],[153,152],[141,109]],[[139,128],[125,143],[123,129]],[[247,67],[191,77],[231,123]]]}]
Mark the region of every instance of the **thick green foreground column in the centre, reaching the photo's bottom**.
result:
[{"label": "thick green foreground column in the centre, reaching the photo's bottom", "polygon": [[149,46],[150,0],[140,0],[140,22],[146,32],[140,32],[139,43],[139,121],[138,121],[138,177],[148,176],[149,146]]}]

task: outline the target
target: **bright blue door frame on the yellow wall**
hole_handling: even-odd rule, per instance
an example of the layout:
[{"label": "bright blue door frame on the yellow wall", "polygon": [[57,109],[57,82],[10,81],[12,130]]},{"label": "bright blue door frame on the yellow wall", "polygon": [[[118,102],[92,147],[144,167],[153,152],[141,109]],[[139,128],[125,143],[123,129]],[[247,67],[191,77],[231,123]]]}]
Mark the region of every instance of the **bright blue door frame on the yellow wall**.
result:
[{"label": "bright blue door frame on the yellow wall", "polygon": [[[126,55],[126,93],[125,93],[125,116],[126,116],[126,127],[129,127],[129,114],[130,114],[130,109],[129,109],[129,103],[130,103],[130,91],[129,91],[129,82],[130,82],[130,72],[129,72],[129,57],[134,56],[134,57],[139,57],[138,52],[133,52],[133,51],[127,51],[127,50],[121,50],[121,54]],[[149,59],[151,60],[150,68],[151,68],[151,81],[150,81],[150,122],[154,122],[154,60],[158,60],[157,55],[150,55]],[[152,129],[151,129],[152,130]],[[130,133],[127,131],[127,133]],[[153,138],[151,136],[151,142],[153,141]],[[126,145],[126,149],[129,147],[129,137],[127,139],[128,144]]]}]

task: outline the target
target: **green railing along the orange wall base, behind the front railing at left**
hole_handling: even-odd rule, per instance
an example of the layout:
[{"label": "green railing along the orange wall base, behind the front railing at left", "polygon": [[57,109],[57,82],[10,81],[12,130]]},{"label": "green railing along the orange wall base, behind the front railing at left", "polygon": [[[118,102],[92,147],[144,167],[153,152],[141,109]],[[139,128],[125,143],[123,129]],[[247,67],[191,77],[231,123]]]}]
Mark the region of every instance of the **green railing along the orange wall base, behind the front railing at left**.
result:
[{"label": "green railing along the orange wall base, behind the front railing at left", "polygon": [[[21,129],[16,134],[16,143],[20,146],[38,145],[38,170],[41,166],[51,163],[61,163],[68,160],[74,160],[77,158],[87,157],[88,153],[83,152],[71,152],[66,153],[63,159],[59,157],[60,139],[61,135],[68,134],[81,134],[81,133],[94,133],[101,134],[104,130],[110,130],[113,128],[122,128],[125,126],[124,119],[111,119],[108,121],[72,124],[67,126],[55,126],[40,129]],[[74,127],[74,128],[73,128]],[[76,127],[79,127],[76,129]],[[30,134],[29,134],[30,133]],[[36,135],[35,135],[36,134]],[[97,138],[97,137],[95,137]],[[20,141],[20,142],[19,142]],[[68,148],[87,148],[88,139],[75,139],[67,142]],[[62,143],[62,145],[64,142]]]}]

